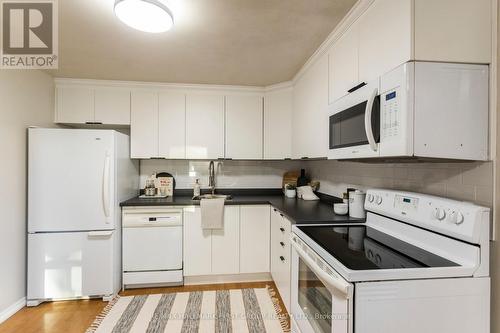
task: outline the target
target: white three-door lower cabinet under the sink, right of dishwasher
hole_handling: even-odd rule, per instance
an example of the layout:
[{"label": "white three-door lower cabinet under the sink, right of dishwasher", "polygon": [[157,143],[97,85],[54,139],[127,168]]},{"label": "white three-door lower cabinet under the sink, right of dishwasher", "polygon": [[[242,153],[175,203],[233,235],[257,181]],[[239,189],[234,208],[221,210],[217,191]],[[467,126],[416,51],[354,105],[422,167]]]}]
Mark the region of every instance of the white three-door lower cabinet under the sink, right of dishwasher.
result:
[{"label": "white three-door lower cabinet under the sink, right of dishwasher", "polygon": [[269,272],[269,205],[225,206],[224,228],[201,228],[200,207],[184,208],[184,275]]}]

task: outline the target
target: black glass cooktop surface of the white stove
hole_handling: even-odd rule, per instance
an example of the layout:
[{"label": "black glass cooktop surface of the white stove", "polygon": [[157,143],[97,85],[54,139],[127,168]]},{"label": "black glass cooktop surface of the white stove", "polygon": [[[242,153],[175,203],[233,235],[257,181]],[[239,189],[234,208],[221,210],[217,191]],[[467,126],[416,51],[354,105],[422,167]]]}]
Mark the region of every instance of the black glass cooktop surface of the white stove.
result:
[{"label": "black glass cooktop surface of the white stove", "polygon": [[352,270],[459,266],[366,226],[298,228]]}]

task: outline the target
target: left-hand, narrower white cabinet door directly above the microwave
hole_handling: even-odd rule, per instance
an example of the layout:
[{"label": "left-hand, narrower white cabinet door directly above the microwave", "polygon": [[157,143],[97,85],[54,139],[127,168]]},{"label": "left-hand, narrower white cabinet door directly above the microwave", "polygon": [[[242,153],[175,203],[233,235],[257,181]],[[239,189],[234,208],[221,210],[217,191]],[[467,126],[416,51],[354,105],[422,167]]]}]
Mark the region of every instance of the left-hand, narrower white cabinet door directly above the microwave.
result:
[{"label": "left-hand, narrower white cabinet door directly above the microwave", "polygon": [[358,75],[358,24],[355,22],[335,42],[329,58],[329,103],[348,94],[359,83]]}]

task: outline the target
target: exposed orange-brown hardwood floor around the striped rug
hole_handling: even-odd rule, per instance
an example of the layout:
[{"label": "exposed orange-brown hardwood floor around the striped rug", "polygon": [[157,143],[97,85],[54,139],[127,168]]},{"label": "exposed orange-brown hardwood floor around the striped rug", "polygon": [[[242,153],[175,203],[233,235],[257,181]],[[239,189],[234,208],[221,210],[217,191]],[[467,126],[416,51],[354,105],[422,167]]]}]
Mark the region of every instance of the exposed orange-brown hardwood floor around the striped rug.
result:
[{"label": "exposed orange-brown hardwood floor around the striped rug", "polygon": [[[264,288],[270,286],[277,292],[274,282],[226,283],[168,288],[131,289],[122,296],[162,294],[172,292],[207,291],[224,289]],[[108,304],[100,299],[43,303],[34,308],[23,308],[3,324],[0,333],[78,333],[92,324],[94,318]],[[286,313],[280,298],[281,309]]]}]

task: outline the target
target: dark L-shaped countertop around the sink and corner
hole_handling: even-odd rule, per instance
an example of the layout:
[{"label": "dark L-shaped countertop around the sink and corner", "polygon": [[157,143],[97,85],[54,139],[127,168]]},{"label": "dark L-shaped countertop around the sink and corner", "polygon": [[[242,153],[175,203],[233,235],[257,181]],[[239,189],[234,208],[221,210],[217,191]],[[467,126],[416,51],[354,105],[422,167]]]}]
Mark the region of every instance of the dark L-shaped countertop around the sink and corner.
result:
[{"label": "dark L-shaped countertop around the sink and corner", "polygon": [[[336,215],[333,203],[340,202],[338,198],[319,194],[320,201],[305,201],[286,198],[280,190],[218,190],[220,194],[230,194],[231,200],[226,205],[258,205],[270,204],[280,211],[294,224],[329,224],[329,223],[360,223],[364,219],[355,219],[347,215]],[[133,206],[196,206],[199,200],[192,200],[188,192],[178,191],[173,197],[164,199],[132,198],[120,204],[122,207]]]}]

